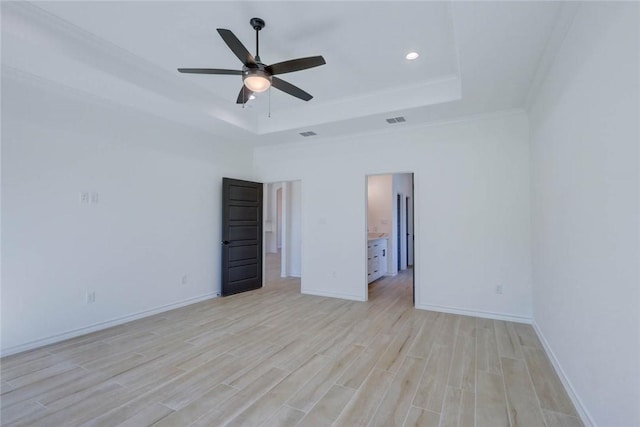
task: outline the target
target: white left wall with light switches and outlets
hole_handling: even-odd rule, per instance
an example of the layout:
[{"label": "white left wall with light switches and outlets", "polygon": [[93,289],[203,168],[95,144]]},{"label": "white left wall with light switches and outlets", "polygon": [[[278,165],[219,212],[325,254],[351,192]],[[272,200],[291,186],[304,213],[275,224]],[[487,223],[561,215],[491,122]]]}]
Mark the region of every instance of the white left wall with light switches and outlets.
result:
[{"label": "white left wall with light switches and outlets", "polygon": [[215,295],[221,178],[251,178],[250,163],[238,144],[3,73],[3,354]]}]

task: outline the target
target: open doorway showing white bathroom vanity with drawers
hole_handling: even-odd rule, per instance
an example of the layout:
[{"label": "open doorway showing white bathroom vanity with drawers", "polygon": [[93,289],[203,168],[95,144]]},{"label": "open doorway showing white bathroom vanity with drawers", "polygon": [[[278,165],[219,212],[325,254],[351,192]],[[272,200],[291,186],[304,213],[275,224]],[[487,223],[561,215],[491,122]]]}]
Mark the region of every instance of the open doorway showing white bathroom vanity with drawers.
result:
[{"label": "open doorway showing white bathroom vanity with drawers", "polygon": [[366,293],[378,295],[406,289],[414,305],[413,173],[366,177],[367,280]]}]

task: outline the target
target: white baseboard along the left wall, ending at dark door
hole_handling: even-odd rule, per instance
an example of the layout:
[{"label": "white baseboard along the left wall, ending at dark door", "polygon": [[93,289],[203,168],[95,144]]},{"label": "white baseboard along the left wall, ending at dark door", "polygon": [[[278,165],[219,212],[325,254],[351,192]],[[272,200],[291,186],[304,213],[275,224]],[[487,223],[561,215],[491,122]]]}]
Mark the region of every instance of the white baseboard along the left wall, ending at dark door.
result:
[{"label": "white baseboard along the left wall, ending at dark door", "polygon": [[25,344],[20,344],[20,345],[6,348],[6,349],[2,349],[2,351],[0,351],[0,357],[10,356],[12,354],[21,353],[27,350],[33,350],[39,347],[44,347],[45,345],[49,345],[49,344],[55,344],[57,342],[68,340],[70,338],[75,338],[81,335],[90,334],[92,332],[100,331],[103,329],[111,328],[113,326],[121,325],[123,323],[131,322],[132,320],[153,316],[154,314],[163,313],[165,311],[184,307],[190,304],[195,304],[197,302],[205,301],[205,300],[216,298],[216,297],[218,297],[218,293],[209,293],[209,294],[200,295],[194,298],[188,298],[186,300],[182,300],[179,302],[166,304],[160,307],[155,307],[149,310],[140,311],[138,313],[129,314],[127,316],[106,320],[104,322],[94,323],[92,325],[85,326],[82,328],[73,329],[60,334],[51,335],[45,338],[40,338],[34,341],[30,341]]}]

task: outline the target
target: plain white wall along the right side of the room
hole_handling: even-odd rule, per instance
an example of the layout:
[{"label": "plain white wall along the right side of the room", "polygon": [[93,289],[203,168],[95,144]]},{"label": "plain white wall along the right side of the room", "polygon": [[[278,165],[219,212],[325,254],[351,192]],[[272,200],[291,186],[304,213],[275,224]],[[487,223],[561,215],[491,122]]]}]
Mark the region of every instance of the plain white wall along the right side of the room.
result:
[{"label": "plain white wall along the right side of the room", "polygon": [[638,3],[582,3],[531,109],[534,317],[583,415],[640,425]]}]

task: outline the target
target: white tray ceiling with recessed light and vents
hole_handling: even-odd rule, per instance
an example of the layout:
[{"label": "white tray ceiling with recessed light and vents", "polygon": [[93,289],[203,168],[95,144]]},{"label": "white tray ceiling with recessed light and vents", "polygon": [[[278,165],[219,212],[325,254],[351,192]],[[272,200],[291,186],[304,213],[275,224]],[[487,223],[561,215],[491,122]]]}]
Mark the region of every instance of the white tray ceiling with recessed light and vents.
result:
[{"label": "white tray ceiling with recessed light and vents", "polygon": [[[419,126],[522,108],[570,16],[562,2],[3,2],[2,64],[107,102],[254,145]],[[216,28],[267,64],[323,55],[245,108],[240,69]],[[420,57],[407,61],[409,51]],[[269,108],[271,116],[269,117]],[[406,122],[389,125],[388,117]]]}]

